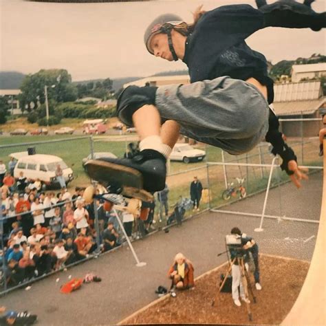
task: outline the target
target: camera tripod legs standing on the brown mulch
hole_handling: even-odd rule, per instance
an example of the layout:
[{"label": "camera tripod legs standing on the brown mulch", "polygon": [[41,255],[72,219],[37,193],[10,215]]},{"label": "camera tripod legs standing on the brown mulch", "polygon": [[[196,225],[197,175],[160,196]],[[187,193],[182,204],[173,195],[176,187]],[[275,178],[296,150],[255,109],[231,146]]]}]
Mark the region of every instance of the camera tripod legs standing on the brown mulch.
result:
[{"label": "camera tripod legs standing on the brown mulch", "polygon": [[[232,265],[235,265],[236,262],[237,262],[237,265],[239,265],[240,272],[241,272],[241,281],[242,281],[242,286],[243,286],[243,292],[244,292],[245,298],[246,298],[248,318],[249,318],[250,321],[252,321],[250,302],[248,300],[249,299],[248,290],[250,291],[250,294],[252,296],[252,299],[253,299],[254,303],[256,303],[256,297],[254,296],[254,292],[252,291],[249,275],[248,275],[248,272],[246,270],[245,263],[243,261],[243,256],[237,256],[231,261],[230,266],[228,268],[228,272],[226,272],[226,276],[224,276],[224,279],[223,279],[223,281],[221,283],[221,286],[219,287],[219,292],[221,292],[221,289],[224,287],[224,283],[226,283],[226,279],[228,278],[228,275],[231,274]],[[215,299],[217,298],[217,295],[219,294],[219,292],[217,292],[217,294],[215,295],[215,298],[212,301],[212,306],[215,305]]]}]

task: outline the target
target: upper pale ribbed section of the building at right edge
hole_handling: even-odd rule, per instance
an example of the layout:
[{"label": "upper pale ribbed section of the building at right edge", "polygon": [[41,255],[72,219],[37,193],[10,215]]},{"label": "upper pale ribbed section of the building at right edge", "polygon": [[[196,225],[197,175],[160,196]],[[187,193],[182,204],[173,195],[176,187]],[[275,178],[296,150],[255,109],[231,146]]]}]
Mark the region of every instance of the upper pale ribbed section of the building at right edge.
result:
[{"label": "upper pale ribbed section of the building at right edge", "polygon": [[274,85],[274,103],[296,100],[318,100],[323,96],[320,80]]}]

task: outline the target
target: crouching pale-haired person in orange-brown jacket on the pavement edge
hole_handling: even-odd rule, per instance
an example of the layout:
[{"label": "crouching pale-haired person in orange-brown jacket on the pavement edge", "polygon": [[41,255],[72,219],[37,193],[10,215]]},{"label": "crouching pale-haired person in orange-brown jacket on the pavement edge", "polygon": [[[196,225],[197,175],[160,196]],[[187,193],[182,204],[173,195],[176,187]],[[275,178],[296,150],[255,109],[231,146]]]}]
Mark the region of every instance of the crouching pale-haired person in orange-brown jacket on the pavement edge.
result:
[{"label": "crouching pale-haired person in orange-brown jacket on the pavement edge", "polygon": [[193,264],[181,252],[175,255],[168,275],[178,290],[188,289],[195,284],[193,280]]}]

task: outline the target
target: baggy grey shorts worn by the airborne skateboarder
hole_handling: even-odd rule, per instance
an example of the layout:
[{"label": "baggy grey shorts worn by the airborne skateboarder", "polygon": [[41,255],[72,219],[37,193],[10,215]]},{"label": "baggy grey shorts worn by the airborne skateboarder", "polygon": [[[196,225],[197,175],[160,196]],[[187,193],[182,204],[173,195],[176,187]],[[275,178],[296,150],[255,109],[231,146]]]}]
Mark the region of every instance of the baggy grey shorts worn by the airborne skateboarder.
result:
[{"label": "baggy grey shorts worn by the airborne skateboarder", "polygon": [[269,107],[263,94],[228,76],[158,87],[155,106],[162,119],[180,124],[183,135],[232,155],[250,151],[268,131]]}]

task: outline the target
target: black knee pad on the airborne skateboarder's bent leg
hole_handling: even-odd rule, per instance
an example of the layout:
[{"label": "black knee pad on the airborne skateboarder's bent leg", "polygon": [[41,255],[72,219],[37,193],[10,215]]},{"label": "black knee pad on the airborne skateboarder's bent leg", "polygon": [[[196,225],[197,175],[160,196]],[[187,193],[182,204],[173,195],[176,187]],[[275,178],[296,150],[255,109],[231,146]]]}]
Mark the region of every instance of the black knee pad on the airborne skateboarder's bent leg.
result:
[{"label": "black knee pad on the airborne skateboarder's bent leg", "polygon": [[133,126],[133,113],[144,105],[155,105],[157,87],[129,86],[122,91],[117,102],[118,118],[128,127]]}]

